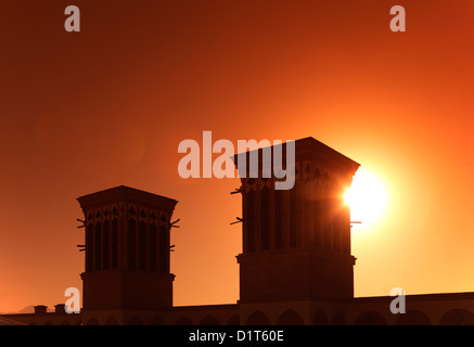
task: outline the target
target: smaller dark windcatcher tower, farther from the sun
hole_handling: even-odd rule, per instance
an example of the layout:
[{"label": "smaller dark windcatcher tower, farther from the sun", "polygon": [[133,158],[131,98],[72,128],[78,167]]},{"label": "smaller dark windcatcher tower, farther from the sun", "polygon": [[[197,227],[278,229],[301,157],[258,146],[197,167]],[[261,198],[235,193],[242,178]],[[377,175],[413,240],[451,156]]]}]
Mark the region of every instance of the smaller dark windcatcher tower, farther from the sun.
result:
[{"label": "smaller dark windcatcher tower, farther from the sun", "polygon": [[84,309],[171,307],[169,231],[177,201],[120,185],[78,202],[86,217]]}]

